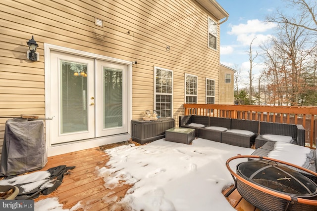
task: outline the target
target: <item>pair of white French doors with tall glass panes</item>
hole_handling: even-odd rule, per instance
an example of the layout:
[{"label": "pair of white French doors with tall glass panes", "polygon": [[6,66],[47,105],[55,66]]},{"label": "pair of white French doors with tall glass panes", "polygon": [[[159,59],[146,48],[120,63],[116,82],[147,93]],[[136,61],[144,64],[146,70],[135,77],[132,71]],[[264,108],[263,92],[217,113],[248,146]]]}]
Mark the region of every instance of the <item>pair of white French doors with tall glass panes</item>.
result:
[{"label": "pair of white French doors with tall glass panes", "polygon": [[52,144],[128,132],[128,67],[51,51]]}]

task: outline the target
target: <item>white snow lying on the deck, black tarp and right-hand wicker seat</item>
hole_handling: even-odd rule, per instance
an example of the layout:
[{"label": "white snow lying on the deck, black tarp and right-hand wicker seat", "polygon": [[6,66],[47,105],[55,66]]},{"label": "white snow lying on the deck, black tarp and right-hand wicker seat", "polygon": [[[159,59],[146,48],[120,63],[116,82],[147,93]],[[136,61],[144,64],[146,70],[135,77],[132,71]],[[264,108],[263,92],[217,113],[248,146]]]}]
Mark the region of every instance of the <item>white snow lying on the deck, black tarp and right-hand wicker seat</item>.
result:
[{"label": "white snow lying on the deck, black tarp and right-hand wicker seat", "polygon": [[[274,152],[272,158],[302,166],[310,149],[287,144],[276,142],[276,149],[271,151]],[[285,150],[296,153],[288,156]],[[115,188],[119,180],[134,184],[119,202],[110,196],[102,199],[106,203],[116,202],[109,210],[125,207],[126,211],[235,211],[221,193],[234,183],[225,164],[231,157],[251,155],[253,152],[254,149],[202,138],[193,140],[192,144],[159,139],[145,145],[130,144],[106,149],[110,160],[105,167],[96,167],[95,172],[96,177],[104,178],[106,188]],[[235,171],[237,164],[246,161],[247,158],[232,160],[230,169]],[[47,171],[38,171],[7,181],[1,180],[0,185],[34,181],[34,185],[24,187],[30,190],[31,186],[38,187],[40,181],[49,186],[48,176]],[[64,210],[56,197],[35,203],[35,211],[77,209],[88,211],[89,205],[79,202],[71,209]]]}]

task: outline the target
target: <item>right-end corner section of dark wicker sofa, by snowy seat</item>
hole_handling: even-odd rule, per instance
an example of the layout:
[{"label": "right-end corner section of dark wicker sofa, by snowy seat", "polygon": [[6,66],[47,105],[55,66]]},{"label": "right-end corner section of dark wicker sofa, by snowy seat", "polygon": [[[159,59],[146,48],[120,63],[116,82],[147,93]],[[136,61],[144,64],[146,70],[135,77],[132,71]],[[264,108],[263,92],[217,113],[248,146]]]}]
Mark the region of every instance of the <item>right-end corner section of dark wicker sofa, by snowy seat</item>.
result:
[{"label": "right-end corner section of dark wicker sofa, by snowy seat", "polygon": [[294,144],[305,146],[305,128],[302,125],[260,122],[260,134],[256,138],[256,149],[262,147],[267,141],[272,141],[263,137],[263,135],[269,134],[291,136]]}]

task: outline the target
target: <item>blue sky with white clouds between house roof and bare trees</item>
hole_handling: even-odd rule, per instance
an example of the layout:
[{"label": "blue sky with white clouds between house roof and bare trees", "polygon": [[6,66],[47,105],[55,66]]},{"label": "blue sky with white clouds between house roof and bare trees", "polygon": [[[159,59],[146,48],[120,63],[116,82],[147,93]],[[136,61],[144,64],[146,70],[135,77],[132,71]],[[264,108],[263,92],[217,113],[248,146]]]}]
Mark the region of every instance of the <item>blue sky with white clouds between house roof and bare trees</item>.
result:
[{"label": "blue sky with white clouds between house roof and bare trees", "polygon": [[[265,17],[278,9],[289,14],[292,9],[284,0],[216,0],[229,13],[228,20],[220,25],[220,63],[236,69],[241,68],[243,82],[249,83],[250,61],[247,51],[252,43],[253,55],[260,52],[259,43],[274,35],[274,23],[266,23]],[[224,20],[224,19],[222,19]],[[255,79],[263,70],[262,58],[254,60],[252,72]]]}]

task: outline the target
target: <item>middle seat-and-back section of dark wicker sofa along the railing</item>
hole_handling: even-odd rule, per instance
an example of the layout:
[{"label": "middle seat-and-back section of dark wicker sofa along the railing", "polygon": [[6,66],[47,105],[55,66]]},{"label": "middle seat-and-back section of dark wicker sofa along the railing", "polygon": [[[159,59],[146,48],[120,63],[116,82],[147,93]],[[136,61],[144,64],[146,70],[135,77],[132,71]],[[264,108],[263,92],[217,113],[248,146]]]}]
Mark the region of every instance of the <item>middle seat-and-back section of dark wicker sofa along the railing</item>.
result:
[{"label": "middle seat-and-back section of dark wicker sofa along the railing", "polygon": [[[209,127],[223,127],[224,130],[230,129],[231,119],[210,117]],[[207,139],[207,140],[211,140],[211,141],[221,142],[221,133],[224,130],[219,130],[218,128],[206,128],[206,127],[199,128],[199,137]]]}]

